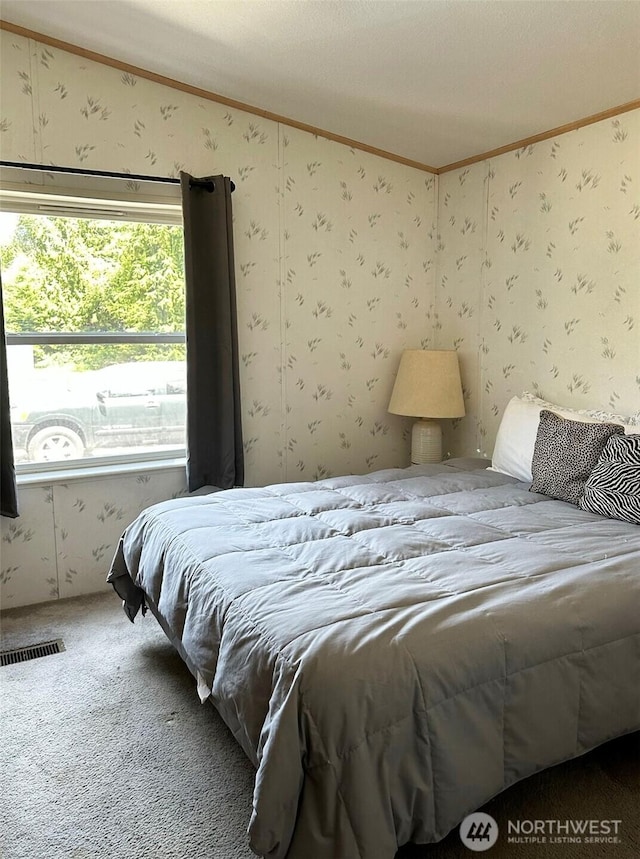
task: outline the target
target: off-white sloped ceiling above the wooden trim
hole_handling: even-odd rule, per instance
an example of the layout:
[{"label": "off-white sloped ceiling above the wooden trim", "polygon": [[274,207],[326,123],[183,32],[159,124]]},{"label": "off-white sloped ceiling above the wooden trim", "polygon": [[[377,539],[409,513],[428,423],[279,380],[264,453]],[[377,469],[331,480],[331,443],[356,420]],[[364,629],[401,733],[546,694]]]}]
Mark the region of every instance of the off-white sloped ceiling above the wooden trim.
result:
[{"label": "off-white sloped ceiling above the wooden trim", "polygon": [[0,0],[0,15],[431,167],[640,96],[639,0]]}]

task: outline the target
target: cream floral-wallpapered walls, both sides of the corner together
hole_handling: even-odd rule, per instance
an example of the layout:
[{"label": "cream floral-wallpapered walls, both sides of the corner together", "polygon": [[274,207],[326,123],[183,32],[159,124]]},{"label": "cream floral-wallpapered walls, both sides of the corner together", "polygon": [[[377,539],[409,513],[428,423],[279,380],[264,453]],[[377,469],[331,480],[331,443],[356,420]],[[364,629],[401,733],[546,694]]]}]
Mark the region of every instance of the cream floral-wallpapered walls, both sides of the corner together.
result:
[{"label": "cream floral-wallpapered walls, both sides of the corner together", "polygon": [[[408,460],[403,348],[458,349],[454,455],[491,454],[523,389],[640,408],[640,111],[438,180],[0,33],[6,160],[224,173],[233,198],[247,482]],[[179,470],[20,490],[2,606],[92,592]]]}]

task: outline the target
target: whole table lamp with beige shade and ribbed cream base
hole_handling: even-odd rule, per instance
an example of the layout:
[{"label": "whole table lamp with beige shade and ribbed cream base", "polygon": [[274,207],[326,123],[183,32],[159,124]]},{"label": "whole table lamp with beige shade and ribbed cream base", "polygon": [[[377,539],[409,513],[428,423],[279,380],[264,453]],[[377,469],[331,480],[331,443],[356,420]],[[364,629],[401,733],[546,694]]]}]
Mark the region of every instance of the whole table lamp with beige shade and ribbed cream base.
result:
[{"label": "whole table lamp with beige shade and ribbed cream base", "polygon": [[442,462],[442,429],[433,418],[464,417],[458,353],[406,349],[400,359],[389,411],[423,419],[416,421],[411,431],[412,464]]}]

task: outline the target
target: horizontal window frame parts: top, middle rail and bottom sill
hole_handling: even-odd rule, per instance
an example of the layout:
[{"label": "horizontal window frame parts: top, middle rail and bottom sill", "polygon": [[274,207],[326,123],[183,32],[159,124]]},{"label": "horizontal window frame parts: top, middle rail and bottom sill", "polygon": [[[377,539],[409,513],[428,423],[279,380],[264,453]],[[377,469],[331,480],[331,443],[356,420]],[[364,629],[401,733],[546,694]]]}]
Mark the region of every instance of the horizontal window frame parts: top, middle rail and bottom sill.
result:
[{"label": "horizontal window frame parts: top, middle rail and bottom sill", "polygon": [[[61,187],[58,184],[46,185],[47,181],[57,181],[61,177],[52,174],[38,175],[35,171],[18,172],[0,170],[0,212],[86,218],[88,220],[112,220],[166,224],[183,228],[182,205],[179,185],[170,186],[175,193],[157,194],[153,182],[123,182],[121,179],[97,179],[95,176],[74,176],[74,184]],[[7,173],[10,178],[7,179]],[[65,180],[70,177],[66,176]],[[149,344],[162,345],[186,343],[186,333],[156,333],[153,331],[136,332],[5,332],[7,347],[27,345],[103,345],[103,344]],[[186,359],[185,359],[186,360]],[[99,455],[78,459],[53,460],[48,462],[19,462],[15,464],[18,482],[34,482],[42,476],[60,473],[63,477],[82,477],[109,472],[123,468],[140,470],[150,467],[175,467],[186,460],[186,439],[184,446],[166,447],[162,450],[141,450],[140,452]],[[20,478],[26,478],[24,481]]]}]

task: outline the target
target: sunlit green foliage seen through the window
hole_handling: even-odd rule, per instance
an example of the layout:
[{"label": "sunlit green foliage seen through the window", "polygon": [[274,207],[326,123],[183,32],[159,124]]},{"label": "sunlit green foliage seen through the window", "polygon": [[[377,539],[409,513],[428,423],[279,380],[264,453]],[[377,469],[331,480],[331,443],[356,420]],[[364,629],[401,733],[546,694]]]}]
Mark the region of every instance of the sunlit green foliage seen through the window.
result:
[{"label": "sunlit green foliage seen through the window", "polygon": [[[21,215],[0,248],[5,324],[13,333],[184,330],[182,230],[163,224]],[[181,360],[184,346],[39,346],[40,366],[77,370]]]}]

